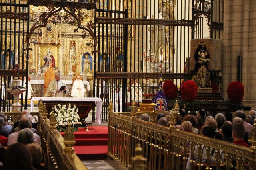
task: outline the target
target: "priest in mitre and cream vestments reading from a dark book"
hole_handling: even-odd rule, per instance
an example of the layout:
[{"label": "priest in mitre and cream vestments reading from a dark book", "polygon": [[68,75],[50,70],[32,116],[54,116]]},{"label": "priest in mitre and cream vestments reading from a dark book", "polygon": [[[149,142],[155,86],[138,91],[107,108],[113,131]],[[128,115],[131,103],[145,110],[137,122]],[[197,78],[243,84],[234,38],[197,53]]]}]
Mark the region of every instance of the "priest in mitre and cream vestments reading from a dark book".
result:
[{"label": "priest in mitre and cream vestments reading from a dark book", "polygon": [[44,97],[67,97],[68,88],[60,91],[59,89],[66,84],[60,80],[60,70],[54,72],[55,78],[50,82]]}]

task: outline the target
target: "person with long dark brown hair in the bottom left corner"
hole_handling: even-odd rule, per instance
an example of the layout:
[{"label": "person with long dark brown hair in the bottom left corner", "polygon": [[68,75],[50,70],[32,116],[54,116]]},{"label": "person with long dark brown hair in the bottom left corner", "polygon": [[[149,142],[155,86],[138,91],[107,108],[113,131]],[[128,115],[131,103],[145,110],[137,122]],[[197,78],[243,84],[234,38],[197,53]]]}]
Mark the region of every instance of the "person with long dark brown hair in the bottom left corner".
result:
[{"label": "person with long dark brown hair in the bottom left corner", "polygon": [[10,145],[4,154],[4,170],[34,170],[32,156],[22,143]]}]

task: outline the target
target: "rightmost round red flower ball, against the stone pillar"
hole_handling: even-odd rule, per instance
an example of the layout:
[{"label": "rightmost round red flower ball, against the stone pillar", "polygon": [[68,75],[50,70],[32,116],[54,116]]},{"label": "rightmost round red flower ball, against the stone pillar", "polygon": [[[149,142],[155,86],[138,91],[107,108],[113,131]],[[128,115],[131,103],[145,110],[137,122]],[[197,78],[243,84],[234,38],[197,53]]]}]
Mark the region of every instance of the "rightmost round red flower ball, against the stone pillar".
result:
[{"label": "rightmost round red flower ball, against the stone pillar", "polygon": [[233,102],[242,102],[244,97],[244,86],[240,82],[231,82],[228,85],[228,98]]}]

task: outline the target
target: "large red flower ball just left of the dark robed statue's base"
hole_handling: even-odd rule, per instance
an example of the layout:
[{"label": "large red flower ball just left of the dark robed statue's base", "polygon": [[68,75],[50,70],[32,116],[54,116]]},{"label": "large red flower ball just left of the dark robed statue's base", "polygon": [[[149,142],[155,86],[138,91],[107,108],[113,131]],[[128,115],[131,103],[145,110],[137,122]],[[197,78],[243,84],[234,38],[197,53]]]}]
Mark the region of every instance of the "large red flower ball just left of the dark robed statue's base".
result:
[{"label": "large red flower ball just left of the dark robed statue's base", "polygon": [[181,86],[181,97],[185,102],[193,102],[196,99],[197,86],[192,80],[184,82]]}]

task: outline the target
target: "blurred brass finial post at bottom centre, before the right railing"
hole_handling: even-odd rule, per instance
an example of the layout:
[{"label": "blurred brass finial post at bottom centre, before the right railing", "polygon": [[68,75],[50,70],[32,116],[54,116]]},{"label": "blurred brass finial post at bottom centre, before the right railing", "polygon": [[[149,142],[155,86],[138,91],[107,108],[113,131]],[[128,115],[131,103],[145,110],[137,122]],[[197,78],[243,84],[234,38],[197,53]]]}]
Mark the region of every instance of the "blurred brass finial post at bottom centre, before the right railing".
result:
[{"label": "blurred brass finial post at bottom centre, before the right railing", "polygon": [[146,170],[147,158],[142,156],[142,147],[137,143],[135,147],[135,156],[132,158],[132,170]]}]

